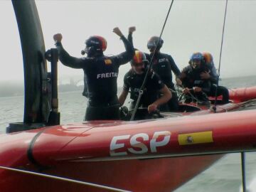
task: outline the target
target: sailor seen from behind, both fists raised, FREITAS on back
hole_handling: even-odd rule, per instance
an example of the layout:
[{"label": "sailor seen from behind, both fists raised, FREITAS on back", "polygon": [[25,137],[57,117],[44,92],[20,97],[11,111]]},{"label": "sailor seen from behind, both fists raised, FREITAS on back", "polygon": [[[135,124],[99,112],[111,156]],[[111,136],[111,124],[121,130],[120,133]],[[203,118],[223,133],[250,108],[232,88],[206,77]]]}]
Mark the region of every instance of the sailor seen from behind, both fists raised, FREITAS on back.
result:
[{"label": "sailor seen from behind, both fists raised, FREITAS on back", "polygon": [[119,28],[114,28],[113,32],[122,39],[126,51],[110,57],[103,54],[103,51],[107,48],[107,42],[101,36],[91,36],[87,39],[85,42],[86,58],[70,56],[61,44],[62,35],[58,33],[53,36],[63,65],[82,69],[86,75],[88,102],[85,120],[119,119],[117,98],[119,65],[128,63],[132,59],[134,48],[127,41],[127,38],[122,35]]}]

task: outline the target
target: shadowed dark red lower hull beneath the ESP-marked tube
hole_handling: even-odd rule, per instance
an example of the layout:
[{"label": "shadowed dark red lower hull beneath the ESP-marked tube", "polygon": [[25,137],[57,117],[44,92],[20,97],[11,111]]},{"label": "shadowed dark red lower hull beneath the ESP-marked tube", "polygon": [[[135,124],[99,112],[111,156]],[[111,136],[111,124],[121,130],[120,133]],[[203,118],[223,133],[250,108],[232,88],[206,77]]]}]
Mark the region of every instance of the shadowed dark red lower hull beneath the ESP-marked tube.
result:
[{"label": "shadowed dark red lower hull beneath the ESP-marked tube", "polygon": [[[133,159],[58,164],[43,173],[97,183],[127,191],[174,191],[220,159],[222,155],[163,159]],[[19,167],[24,169],[25,167]],[[31,169],[26,167],[26,169]],[[32,169],[35,170],[35,169]],[[38,170],[35,170],[38,171]],[[41,176],[1,171],[1,191],[108,191]],[[14,184],[15,183],[15,184]]]}]

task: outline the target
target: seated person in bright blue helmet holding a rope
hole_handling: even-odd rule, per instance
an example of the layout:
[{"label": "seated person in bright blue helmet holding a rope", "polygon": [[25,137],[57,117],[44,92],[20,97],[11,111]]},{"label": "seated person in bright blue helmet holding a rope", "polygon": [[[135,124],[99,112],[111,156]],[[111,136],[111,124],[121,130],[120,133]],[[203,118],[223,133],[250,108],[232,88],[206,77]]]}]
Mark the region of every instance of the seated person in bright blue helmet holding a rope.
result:
[{"label": "seated person in bright blue helmet holding a rope", "polygon": [[[208,94],[210,92],[211,82],[210,79],[201,78],[201,74],[210,73],[210,71],[206,66],[203,55],[201,53],[193,53],[188,63],[189,65],[183,68],[180,75],[183,87],[185,87],[183,93],[188,95],[190,92],[198,100],[208,102],[208,97],[205,93]],[[186,100],[186,102],[191,101],[191,97]]]}]

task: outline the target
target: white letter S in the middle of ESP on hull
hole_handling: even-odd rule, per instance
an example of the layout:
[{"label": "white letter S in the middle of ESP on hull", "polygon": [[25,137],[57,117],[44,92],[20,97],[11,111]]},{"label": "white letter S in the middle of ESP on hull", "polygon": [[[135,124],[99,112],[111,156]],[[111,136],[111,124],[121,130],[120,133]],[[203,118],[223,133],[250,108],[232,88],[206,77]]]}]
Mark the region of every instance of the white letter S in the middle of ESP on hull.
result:
[{"label": "white letter S in the middle of ESP on hull", "polygon": [[130,151],[132,154],[145,154],[148,151],[147,146],[145,144],[137,141],[137,138],[139,137],[142,138],[143,141],[149,140],[149,136],[147,134],[144,134],[144,133],[134,134],[134,136],[132,136],[132,138],[130,139],[131,146],[140,148],[141,150],[128,148],[128,151]]}]

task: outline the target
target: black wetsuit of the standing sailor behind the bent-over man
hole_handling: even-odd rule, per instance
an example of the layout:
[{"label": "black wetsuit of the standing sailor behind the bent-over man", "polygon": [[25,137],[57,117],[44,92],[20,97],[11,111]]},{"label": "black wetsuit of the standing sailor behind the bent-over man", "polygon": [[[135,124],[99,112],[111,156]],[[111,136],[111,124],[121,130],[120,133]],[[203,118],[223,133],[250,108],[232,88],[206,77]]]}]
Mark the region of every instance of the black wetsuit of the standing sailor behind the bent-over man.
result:
[{"label": "black wetsuit of the standing sailor behind the bent-over man", "polygon": [[[132,33],[129,33],[128,40],[130,43],[133,43],[132,41]],[[149,55],[146,54],[147,60],[149,62],[151,61],[152,53]],[[161,80],[164,82],[164,84],[169,87],[169,89],[174,90],[171,92],[172,97],[171,100],[168,102],[168,106],[162,105],[160,107],[161,111],[178,111],[178,97],[176,95],[176,90],[174,88],[174,83],[172,82],[172,74],[171,71],[174,72],[176,76],[181,75],[181,71],[178,69],[176,63],[174,62],[174,59],[171,57],[171,55],[164,54],[164,53],[155,53],[154,59],[152,60],[152,69],[156,74],[158,74],[161,78]]]}]

